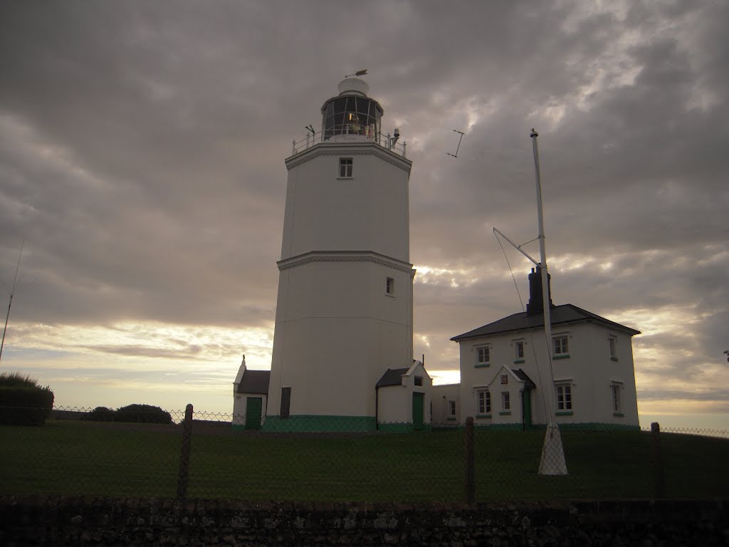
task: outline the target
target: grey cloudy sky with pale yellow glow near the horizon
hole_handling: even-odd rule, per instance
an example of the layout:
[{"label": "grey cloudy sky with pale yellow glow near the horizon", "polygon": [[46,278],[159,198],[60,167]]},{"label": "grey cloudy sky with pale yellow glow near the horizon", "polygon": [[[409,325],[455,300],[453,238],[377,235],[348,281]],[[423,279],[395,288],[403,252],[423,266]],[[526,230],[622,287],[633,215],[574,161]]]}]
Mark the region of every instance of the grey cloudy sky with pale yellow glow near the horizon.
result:
[{"label": "grey cloudy sky with pale yellow glow near the horizon", "polygon": [[413,160],[437,379],[457,381],[448,338],[521,310],[492,228],[536,236],[535,127],[553,300],[642,331],[642,424],[729,429],[728,20],[708,0],[4,1],[8,286],[25,247],[0,368],[59,406],[230,412],[241,354],[270,367],[284,158],[368,69]]}]

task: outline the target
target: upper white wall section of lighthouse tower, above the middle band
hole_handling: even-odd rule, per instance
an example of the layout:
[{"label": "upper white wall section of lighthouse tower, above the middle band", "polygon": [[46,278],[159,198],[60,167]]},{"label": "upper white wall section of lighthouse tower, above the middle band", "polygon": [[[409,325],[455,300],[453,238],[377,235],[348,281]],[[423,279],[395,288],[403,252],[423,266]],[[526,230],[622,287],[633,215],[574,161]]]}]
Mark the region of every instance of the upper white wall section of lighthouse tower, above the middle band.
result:
[{"label": "upper white wall section of lighthouse tower, above the middle band", "polygon": [[[352,158],[352,178],[339,159]],[[316,250],[373,251],[410,260],[410,162],[372,141],[323,142],[286,160],[281,259]]]}]

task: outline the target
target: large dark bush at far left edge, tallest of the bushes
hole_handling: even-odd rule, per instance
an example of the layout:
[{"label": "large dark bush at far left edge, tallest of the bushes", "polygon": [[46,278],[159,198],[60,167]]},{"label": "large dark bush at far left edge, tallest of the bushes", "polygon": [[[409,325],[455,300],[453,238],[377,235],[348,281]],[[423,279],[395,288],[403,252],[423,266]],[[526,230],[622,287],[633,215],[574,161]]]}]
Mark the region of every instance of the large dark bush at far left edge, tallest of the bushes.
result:
[{"label": "large dark bush at far left edge, tallest of the bushes", "polygon": [[50,387],[18,372],[0,373],[0,424],[43,425],[53,408]]}]

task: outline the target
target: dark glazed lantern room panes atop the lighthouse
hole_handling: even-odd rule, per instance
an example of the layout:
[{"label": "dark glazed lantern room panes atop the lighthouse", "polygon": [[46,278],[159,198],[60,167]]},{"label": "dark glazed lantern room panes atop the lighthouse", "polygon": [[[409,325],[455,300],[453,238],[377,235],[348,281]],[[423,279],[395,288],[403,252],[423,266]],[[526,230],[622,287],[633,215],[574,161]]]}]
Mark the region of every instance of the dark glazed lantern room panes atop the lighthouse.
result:
[{"label": "dark glazed lantern room panes atop the lighthouse", "polygon": [[359,135],[374,140],[380,132],[382,108],[371,98],[351,95],[332,98],[321,114],[324,140],[335,135]]}]

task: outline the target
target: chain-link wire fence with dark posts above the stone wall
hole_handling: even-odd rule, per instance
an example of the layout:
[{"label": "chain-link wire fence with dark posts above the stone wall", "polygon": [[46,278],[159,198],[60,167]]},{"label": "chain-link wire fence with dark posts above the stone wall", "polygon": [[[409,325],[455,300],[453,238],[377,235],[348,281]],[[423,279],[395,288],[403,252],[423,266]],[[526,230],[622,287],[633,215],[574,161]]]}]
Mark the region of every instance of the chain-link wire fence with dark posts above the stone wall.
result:
[{"label": "chain-link wire fence with dark posts above the stone wall", "polygon": [[352,432],[351,420],[322,427],[292,417],[284,432],[192,406],[167,414],[55,408],[42,426],[1,425],[0,494],[360,502],[729,494],[728,431],[562,427],[567,473],[550,476],[539,473],[545,430],[537,427],[470,420]]}]

